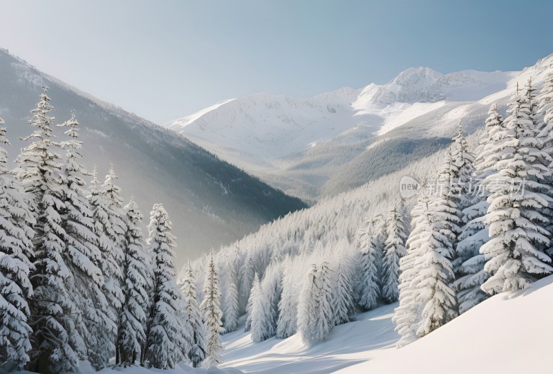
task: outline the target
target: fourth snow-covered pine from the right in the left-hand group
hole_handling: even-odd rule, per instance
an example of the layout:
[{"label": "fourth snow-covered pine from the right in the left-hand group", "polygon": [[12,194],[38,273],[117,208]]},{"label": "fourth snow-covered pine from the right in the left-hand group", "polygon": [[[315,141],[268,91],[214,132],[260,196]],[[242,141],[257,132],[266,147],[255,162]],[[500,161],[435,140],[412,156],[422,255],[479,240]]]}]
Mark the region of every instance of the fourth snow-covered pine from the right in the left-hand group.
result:
[{"label": "fourth snow-covered pine from the right in the left-hand group", "polygon": [[141,357],[146,341],[144,326],[149,312],[150,260],[145,254],[142,234],[142,213],[133,198],[124,206],[125,243],[122,264],[124,301],[119,315],[118,339],[115,346],[115,364],[129,366]]}]

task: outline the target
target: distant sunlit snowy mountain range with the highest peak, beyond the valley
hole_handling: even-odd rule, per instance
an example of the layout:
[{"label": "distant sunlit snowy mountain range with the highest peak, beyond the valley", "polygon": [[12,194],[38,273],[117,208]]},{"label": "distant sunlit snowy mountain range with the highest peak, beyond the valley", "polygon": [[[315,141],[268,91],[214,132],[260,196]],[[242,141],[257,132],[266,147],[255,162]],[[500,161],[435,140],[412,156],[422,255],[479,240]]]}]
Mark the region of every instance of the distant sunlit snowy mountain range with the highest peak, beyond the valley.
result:
[{"label": "distant sunlit snowy mountain range with the highest peak, beyond the valley", "polygon": [[504,111],[516,82],[532,77],[539,88],[551,59],[521,72],[409,68],[384,85],[307,99],[259,93],[165,126],[271,185],[317,200],[443,149],[459,122],[472,133],[491,102]]}]

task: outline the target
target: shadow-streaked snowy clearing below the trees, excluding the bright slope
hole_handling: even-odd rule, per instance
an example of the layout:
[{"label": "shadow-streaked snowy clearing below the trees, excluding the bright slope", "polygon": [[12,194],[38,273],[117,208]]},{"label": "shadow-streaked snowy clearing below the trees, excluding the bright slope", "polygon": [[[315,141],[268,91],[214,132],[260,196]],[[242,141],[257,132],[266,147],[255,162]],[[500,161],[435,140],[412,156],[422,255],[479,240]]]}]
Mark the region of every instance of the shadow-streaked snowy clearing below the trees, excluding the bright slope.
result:
[{"label": "shadow-streaked snowy clearing below the trees, excluding the bright slope", "polygon": [[391,321],[397,303],[357,315],[357,320],[337,326],[326,342],[306,346],[299,335],[253,343],[243,329],[223,335],[225,363],[243,373],[333,373],[364,362],[392,348],[399,339]]}]

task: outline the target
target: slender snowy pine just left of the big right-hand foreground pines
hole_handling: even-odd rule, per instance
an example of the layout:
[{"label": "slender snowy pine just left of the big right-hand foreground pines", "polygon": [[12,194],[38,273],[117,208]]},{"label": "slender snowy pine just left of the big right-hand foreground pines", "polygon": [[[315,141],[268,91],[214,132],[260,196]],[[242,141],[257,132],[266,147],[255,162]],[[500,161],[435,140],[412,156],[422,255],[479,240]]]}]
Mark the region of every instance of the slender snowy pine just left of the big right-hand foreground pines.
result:
[{"label": "slender snowy pine just left of the big right-hand foreground pines", "polygon": [[386,217],[386,241],[382,260],[382,299],[394,303],[400,297],[400,259],[405,256],[405,223],[401,207],[394,207]]}]

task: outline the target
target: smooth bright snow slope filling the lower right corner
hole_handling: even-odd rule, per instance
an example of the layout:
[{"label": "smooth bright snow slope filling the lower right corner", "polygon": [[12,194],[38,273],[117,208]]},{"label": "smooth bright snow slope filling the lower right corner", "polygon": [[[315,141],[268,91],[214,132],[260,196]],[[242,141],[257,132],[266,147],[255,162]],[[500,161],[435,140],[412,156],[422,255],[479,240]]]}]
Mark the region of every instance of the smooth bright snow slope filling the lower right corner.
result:
[{"label": "smooth bright snow slope filling the lower right corner", "polygon": [[550,373],[553,276],[498,294],[418,342],[341,374]]}]

